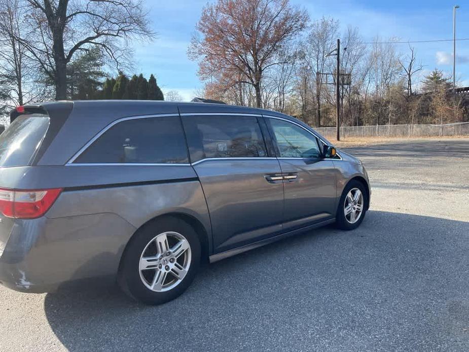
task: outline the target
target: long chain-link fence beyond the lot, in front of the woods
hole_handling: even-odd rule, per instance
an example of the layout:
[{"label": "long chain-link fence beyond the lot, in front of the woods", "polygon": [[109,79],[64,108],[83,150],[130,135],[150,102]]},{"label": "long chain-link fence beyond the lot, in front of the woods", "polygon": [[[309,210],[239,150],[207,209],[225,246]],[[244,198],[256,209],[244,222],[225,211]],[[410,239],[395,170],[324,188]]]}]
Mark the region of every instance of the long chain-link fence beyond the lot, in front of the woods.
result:
[{"label": "long chain-link fence beyond the lot, in front of the woods", "polygon": [[[326,138],[336,137],[336,127],[314,128]],[[445,125],[376,125],[340,127],[341,138],[360,137],[438,137],[469,135],[469,122]]]}]

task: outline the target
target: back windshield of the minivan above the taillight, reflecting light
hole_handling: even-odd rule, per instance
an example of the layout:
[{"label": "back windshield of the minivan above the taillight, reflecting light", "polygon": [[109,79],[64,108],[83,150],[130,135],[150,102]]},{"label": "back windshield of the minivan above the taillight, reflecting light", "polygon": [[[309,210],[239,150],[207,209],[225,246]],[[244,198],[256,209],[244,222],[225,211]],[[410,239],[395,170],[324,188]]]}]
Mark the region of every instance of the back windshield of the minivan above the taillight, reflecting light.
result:
[{"label": "back windshield of the minivan above the taillight, reflecting light", "polygon": [[47,115],[22,115],[0,134],[0,167],[28,166],[49,128]]}]

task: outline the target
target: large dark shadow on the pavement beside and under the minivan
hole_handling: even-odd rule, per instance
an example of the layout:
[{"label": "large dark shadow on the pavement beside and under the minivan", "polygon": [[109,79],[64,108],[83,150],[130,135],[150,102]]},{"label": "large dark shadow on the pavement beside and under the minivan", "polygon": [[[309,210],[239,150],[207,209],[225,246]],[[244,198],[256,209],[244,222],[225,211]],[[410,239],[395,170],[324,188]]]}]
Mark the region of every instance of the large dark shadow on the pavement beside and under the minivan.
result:
[{"label": "large dark shadow on the pavement beside and under the minivan", "polygon": [[370,211],[203,268],[145,306],[117,286],[47,294],[78,350],[469,350],[469,222]]}]

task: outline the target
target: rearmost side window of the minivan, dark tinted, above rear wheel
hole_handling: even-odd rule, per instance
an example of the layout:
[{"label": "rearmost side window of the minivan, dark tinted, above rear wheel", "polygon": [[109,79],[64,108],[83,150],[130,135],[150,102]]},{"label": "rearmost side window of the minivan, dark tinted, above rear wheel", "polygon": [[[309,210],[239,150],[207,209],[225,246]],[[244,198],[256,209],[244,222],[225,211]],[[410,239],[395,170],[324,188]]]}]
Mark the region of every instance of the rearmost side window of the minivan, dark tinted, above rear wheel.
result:
[{"label": "rearmost side window of the minivan, dark tinted, above rear wheel", "polygon": [[152,117],[117,123],[74,163],[187,163],[187,147],[178,117]]}]

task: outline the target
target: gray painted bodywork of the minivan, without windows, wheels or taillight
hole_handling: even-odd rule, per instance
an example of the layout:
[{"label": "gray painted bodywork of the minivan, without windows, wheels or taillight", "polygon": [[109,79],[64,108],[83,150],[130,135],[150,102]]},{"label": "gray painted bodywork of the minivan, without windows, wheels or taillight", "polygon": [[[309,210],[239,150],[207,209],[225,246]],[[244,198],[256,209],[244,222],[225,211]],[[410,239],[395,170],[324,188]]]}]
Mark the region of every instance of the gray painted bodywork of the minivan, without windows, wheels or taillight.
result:
[{"label": "gray painted bodywork of the minivan, without windows, wheels or taillight", "polygon": [[[65,165],[118,119],[157,114],[179,118],[179,112],[276,116],[315,133],[292,117],[260,109],[205,103],[76,101],[37,166],[0,168],[3,188],[64,188],[42,218],[0,217],[0,281],[16,290],[44,292],[69,280],[115,275],[136,229],[168,213],[199,222],[206,232],[208,255],[212,260],[221,259],[334,221],[347,182],[358,176],[368,184],[363,165],[340,151],[342,160],[316,163],[258,158],[207,159],[180,166]],[[299,178],[291,183],[265,179],[265,174],[280,172],[298,172]]]}]

